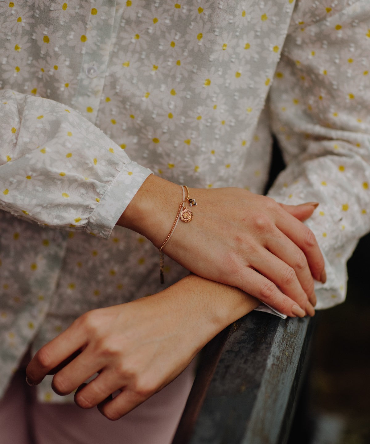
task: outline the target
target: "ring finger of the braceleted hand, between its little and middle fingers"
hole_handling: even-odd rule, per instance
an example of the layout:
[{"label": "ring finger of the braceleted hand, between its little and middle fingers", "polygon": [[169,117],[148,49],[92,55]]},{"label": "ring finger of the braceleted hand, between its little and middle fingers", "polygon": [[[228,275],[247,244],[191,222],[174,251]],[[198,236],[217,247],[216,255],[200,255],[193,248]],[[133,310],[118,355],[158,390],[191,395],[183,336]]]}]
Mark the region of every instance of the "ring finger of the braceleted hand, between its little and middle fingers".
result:
[{"label": "ring finger of the braceleted hand, between its little and middle fingers", "polygon": [[252,258],[251,263],[260,274],[272,281],[310,316],[315,314],[315,310],[308,301],[307,294],[303,291],[294,269],[286,262],[283,262],[268,250],[261,248],[256,258]]}]

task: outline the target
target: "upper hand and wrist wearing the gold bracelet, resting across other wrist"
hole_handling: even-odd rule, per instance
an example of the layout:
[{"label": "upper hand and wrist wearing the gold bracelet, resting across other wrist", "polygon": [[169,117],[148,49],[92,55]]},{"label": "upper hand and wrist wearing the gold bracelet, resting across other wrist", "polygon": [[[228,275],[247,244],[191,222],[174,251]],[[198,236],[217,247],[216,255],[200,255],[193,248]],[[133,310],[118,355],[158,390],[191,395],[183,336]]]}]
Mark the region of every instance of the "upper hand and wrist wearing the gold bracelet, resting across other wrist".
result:
[{"label": "upper hand and wrist wearing the gold bracelet, resting across other wrist", "polygon": [[[326,280],[315,235],[300,220],[313,204],[279,205],[241,188],[191,188],[189,223],[178,222],[163,251],[189,271],[238,287],[288,316],[315,314],[315,278]],[[118,221],[159,248],[176,216],[180,186],[149,176]],[[299,220],[300,219],[300,220]]]}]

